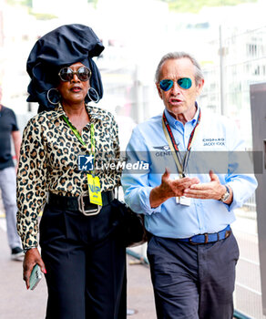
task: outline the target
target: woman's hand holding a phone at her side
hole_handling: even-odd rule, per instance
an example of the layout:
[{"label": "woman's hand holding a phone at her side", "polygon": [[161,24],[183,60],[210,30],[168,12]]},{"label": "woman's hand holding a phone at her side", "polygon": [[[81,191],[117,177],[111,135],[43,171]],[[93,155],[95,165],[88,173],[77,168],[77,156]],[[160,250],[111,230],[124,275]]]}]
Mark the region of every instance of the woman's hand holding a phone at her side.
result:
[{"label": "woman's hand holding a phone at her side", "polygon": [[36,263],[40,266],[42,273],[46,273],[46,266],[37,248],[26,251],[23,262],[23,280],[26,282],[26,289],[29,288],[29,277]]}]

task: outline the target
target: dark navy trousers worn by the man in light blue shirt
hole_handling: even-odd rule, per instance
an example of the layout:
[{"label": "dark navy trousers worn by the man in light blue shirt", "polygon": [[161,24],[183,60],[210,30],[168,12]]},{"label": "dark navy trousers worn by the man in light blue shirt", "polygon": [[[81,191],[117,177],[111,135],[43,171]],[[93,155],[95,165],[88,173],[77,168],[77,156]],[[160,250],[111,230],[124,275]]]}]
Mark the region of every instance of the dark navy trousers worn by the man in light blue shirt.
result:
[{"label": "dark navy trousers worn by the man in light blue shirt", "polygon": [[148,261],[159,319],[231,319],[239,248],[233,234],[191,245],[152,236]]}]

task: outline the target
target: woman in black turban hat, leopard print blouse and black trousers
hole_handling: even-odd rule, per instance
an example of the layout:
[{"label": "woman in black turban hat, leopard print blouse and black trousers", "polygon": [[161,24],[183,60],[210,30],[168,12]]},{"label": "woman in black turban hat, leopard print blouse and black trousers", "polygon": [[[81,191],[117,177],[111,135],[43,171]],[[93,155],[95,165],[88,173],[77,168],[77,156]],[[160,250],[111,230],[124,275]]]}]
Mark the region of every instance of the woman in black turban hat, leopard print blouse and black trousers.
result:
[{"label": "woman in black turban hat, leopard print blouse and black trousers", "polygon": [[39,103],[39,114],[24,131],[17,228],[26,287],[36,264],[46,274],[47,319],[126,318],[125,247],[112,205],[120,174],[95,170],[118,160],[118,126],[110,113],[87,105],[103,94],[91,58],[103,49],[91,28],[60,26],[27,60],[28,100]]}]

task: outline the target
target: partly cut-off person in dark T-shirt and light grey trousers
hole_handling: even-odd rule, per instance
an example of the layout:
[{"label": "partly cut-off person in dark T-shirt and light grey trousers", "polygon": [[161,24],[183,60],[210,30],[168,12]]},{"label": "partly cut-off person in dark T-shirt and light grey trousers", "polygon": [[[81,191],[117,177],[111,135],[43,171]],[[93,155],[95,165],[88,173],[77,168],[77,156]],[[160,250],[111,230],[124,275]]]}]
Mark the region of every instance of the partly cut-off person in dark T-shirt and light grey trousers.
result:
[{"label": "partly cut-off person in dark T-shirt and light grey trousers", "polygon": [[[0,102],[1,99],[2,87],[0,87]],[[12,109],[0,104],[0,190],[5,207],[6,232],[11,248],[11,258],[22,261],[24,253],[16,232],[15,171],[17,167],[14,167],[12,160],[11,137],[14,141],[15,160],[18,163],[21,135],[16,124],[15,113]]]}]

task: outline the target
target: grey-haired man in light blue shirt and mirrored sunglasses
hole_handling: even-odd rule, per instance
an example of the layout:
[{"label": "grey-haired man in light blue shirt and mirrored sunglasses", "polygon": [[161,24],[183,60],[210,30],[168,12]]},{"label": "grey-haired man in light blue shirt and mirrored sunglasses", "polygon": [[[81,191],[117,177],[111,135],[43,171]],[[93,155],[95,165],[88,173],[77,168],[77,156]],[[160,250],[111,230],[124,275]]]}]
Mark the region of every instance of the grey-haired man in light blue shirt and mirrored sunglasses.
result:
[{"label": "grey-haired man in light blue shirt and mirrored sunglasses", "polygon": [[159,319],[232,318],[239,249],[230,223],[233,209],[257,187],[253,175],[231,172],[230,165],[215,174],[215,161],[190,153],[243,149],[228,119],[210,118],[196,103],[203,84],[200,65],[189,54],[162,57],[156,86],[163,116],[139,124],[127,148],[128,161],[148,164],[146,171],[125,170],[122,184],[125,201],[145,214],[150,232]]}]

